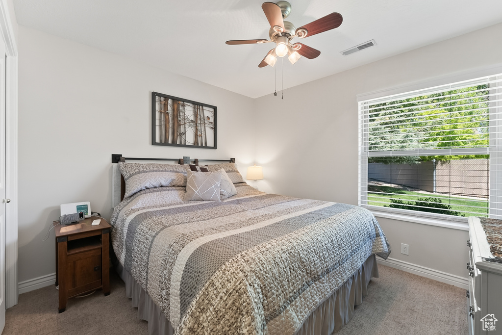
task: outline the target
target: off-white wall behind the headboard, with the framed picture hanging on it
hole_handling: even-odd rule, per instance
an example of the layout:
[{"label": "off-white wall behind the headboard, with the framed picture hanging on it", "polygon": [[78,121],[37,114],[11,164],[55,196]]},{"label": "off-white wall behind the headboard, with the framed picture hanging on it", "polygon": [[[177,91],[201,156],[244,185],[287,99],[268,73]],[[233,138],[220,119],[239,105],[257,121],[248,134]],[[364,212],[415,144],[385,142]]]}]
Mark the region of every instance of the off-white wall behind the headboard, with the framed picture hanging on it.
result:
[{"label": "off-white wall behind the headboard, with the framed picture hanging on it", "polygon": [[[214,75],[217,75],[215,70]],[[218,107],[218,149],[151,145],[151,92]],[[127,58],[19,27],[19,281],[55,272],[61,203],[111,214],[111,154],[255,156],[254,100]]]}]

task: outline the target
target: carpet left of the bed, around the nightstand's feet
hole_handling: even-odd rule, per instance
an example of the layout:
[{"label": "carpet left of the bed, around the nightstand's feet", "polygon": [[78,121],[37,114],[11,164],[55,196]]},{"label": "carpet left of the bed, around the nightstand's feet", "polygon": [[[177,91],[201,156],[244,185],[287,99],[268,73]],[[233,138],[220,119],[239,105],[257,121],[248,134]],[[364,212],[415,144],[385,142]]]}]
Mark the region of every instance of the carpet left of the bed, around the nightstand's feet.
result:
[{"label": "carpet left of the bed, around the nightstand's feet", "polygon": [[2,335],[8,334],[148,334],[148,322],[139,320],[138,309],[126,297],[126,285],[110,271],[110,294],[96,291],[83,298],[68,299],[66,311],[58,313],[54,285],[19,296],[7,309]]}]

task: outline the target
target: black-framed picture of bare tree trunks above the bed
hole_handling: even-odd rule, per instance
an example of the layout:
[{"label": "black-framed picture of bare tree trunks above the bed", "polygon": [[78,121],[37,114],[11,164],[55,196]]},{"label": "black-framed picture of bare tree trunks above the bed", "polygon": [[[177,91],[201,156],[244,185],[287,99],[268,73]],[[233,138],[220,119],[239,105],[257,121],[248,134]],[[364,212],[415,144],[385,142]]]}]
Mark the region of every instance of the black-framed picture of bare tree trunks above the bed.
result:
[{"label": "black-framed picture of bare tree trunks above the bed", "polygon": [[152,145],[217,149],[217,109],[152,92]]}]

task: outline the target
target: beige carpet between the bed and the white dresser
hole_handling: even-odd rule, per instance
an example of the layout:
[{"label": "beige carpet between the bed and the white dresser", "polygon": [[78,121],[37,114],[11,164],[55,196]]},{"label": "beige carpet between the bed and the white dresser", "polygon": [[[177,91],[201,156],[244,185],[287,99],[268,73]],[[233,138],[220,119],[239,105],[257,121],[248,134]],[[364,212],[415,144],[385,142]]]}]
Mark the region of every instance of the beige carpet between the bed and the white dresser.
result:
[{"label": "beige carpet between the bed and the white dresser", "polygon": [[467,335],[465,289],[380,264],[379,272],[336,335]]}]

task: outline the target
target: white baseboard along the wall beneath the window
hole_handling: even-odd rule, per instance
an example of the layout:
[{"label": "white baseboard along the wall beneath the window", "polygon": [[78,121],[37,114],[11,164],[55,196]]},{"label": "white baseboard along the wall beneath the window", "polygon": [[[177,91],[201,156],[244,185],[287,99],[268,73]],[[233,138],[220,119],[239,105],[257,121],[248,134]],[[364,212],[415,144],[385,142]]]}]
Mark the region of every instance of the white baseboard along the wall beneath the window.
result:
[{"label": "white baseboard along the wall beneath the window", "polygon": [[387,265],[387,266],[390,266],[391,268],[410,272],[410,273],[413,273],[415,275],[419,275],[422,277],[434,279],[434,280],[440,281],[442,283],[446,283],[446,284],[454,285],[454,286],[457,286],[460,288],[464,288],[466,290],[469,289],[469,280],[467,279],[467,277],[464,278],[464,277],[460,277],[457,275],[452,275],[450,273],[426,268],[421,265],[416,265],[416,264],[400,261],[398,259],[390,258],[390,257],[387,259],[387,261],[384,261],[383,259],[376,258],[376,262],[378,264]]}]

